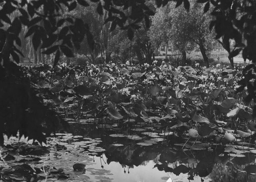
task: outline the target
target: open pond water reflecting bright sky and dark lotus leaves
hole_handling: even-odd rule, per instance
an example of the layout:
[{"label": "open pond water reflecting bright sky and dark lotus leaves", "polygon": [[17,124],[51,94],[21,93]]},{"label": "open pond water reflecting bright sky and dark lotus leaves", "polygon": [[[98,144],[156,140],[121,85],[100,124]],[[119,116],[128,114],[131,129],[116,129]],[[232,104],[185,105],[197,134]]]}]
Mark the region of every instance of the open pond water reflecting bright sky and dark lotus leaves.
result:
[{"label": "open pond water reflecting bright sky and dark lotus leaves", "polygon": [[237,157],[224,152],[225,146],[208,143],[181,150],[182,144],[167,139],[167,134],[137,132],[127,137],[99,129],[88,133],[89,138],[102,142],[92,145],[97,151],[84,150],[94,155],[92,168],[111,171],[109,181],[256,181],[255,156],[245,149],[244,153],[240,150],[244,157]]}]

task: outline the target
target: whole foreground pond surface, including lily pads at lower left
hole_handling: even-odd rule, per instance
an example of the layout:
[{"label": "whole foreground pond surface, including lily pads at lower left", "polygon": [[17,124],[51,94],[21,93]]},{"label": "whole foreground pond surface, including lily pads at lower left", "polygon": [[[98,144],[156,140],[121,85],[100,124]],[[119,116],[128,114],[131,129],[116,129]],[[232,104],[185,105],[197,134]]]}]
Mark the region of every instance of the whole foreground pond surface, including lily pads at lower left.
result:
[{"label": "whole foreground pond surface, including lily pads at lower left", "polygon": [[[12,138],[5,140],[7,149],[0,150],[9,167],[25,162],[37,168],[61,168],[61,176],[67,176],[59,179],[60,175],[47,176],[41,172],[38,181],[256,181],[254,147],[241,146],[239,142],[217,145],[201,139],[191,150],[194,141],[182,150],[186,137],[180,139],[176,133],[156,128],[144,125],[127,130],[108,125],[71,124],[73,134],[56,133],[44,150],[25,143],[13,144],[17,139]],[[38,155],[38,151],[42,154]],[[38,156],[32,156],[34,153]],[[8,157],[10,154],[14,158]],[[74,171],[73,165],[77,163],[86,165],[86,170]],[[0,161],[1,166],[5,164]],[[8,175],[12,179],[14,174],[8,172]]]}]

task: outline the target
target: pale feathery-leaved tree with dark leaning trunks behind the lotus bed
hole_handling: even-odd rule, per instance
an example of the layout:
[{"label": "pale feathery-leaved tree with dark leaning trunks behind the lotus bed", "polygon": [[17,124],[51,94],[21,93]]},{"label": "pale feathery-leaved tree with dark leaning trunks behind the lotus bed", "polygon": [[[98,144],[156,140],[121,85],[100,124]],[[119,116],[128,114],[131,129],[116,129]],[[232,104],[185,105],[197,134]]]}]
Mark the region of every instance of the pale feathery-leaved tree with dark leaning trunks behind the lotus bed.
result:
[{"label": "pale feathery-leaved tree with dark leaning trunks behind the lotus bed", "polygon": [[182,53],[182,60],[186,61],[187,44],[198,44],[206,66],[209,66],[207,52],[214,37],[209,30],[210,14],[204,13],[201,4],[190,1],[189,11],[183,7],[175,8],[174,3],[157,9],[151,27],[152,42],[168,44],[169,41]]}]

